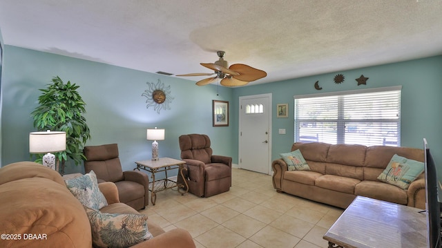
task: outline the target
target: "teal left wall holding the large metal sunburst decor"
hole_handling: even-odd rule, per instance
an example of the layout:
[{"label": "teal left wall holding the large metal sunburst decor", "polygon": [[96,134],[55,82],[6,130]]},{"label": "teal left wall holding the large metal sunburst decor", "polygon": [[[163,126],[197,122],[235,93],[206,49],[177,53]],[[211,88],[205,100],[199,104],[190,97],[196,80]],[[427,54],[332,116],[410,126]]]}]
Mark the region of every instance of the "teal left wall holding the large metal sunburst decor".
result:
[{"label": "teal left wall holding the large metal sunburst decor", "polygon": [[[37,106],[38,90],[46,88],[58,75],[64,82],[77,84],[86,102],[86,121],[92,140],[88,145],[117,143],[124,169],[135,167],[136,160],[151,158],[151,141],[146,140],[146,128],[166,129],[166,140],[159,141],[160,156],[180,158],[178,137],[186,133],[206,133],[213,150],[219,155],[237,156],[232,142],[233,125],[212,126],[212,100],[232,102],[232,88],[198,87],[189,80],[145,73],[96,63],[41,53],[35,50],[6,46],[3,77],[2,133],[3,165],[30,160],[29,132],[35,131],[30,113]],[[171,110],[160,114],[146,108],[146,82],[171,86]],[[217,95],[219,90],[219,95]],[[236,122],[232,118],[231,122]],[[68,165],[66,173],[84,171],[83,166]]]}]

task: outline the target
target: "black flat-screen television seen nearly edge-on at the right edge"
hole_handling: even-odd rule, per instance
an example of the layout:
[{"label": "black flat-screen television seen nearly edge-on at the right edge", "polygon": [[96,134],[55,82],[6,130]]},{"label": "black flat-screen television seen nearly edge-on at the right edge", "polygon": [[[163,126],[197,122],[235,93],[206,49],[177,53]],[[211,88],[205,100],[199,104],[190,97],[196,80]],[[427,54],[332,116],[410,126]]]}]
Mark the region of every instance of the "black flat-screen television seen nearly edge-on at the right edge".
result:
[{"label": "black flat-screen television seen nearly edge-on at the right edge", "polygon": [[425,208],[427,211],[427,247],[441,247],[441,209],[438,197],[438,180],[436,164],[428,148],[427,140],[423,139],[425,165]]}]

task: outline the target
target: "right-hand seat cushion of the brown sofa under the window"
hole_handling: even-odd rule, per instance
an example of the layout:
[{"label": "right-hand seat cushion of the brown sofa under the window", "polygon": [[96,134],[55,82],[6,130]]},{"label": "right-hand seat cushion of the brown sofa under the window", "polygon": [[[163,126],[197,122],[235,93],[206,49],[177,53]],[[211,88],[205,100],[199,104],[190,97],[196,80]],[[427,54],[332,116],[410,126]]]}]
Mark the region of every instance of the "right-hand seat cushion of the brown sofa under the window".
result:
[{"label": "right-hand seat cushion of the brown sofa under the window", "polygon": [[397,204],[407,204],[407,191],[385,182],[364,180],[356,185],[354,194]]}]

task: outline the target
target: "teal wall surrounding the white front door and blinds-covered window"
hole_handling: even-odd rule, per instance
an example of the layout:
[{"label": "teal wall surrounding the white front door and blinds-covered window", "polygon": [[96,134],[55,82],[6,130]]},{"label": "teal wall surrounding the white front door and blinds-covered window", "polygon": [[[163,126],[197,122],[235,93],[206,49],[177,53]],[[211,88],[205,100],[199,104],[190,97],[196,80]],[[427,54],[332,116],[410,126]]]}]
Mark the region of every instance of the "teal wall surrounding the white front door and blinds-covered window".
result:
[{"label": "teal wall surrounding the white front door and blinds-covered window", "polygon": [[[345,76],[342,84],[335,84],[333,81],[338,73]],[[361,75],[369,77],[367,85],[357,85],[355,79]],[[323,90],[314,88],[316,81],[319,81]],[[236,88],[233,91],[235,106],[232,113],[238,116],[238,98],[244,95],[272,93],[273,108],[276,108],[276,104],[289,104],[288,118],[277,118],[276,109],[273,109],[274,160],[279,153],[289,151],[294,142],[294,95],[386,86],[402,86],[401,146],[422,148],[423,137],[426,137],[434,160],[437,164],[442,164],[442,56]],[[233,131],[238,137],[238,123],[235,125]],[[287,134],[278,134],[279,128],[286,128]]]}]

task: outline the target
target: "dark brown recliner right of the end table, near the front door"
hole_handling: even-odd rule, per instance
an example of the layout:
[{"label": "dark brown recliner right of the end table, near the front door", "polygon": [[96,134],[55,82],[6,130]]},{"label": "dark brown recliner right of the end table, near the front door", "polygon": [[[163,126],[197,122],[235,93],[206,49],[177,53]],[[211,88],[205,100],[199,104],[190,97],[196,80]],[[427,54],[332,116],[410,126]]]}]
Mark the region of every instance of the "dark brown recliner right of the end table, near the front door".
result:
[{"label": "dark brown recliner right of the end table, near the front door", "polygon": [[[181,158],[186,161],[184,178],[189,192],[200,197],[209,197],[230,190],[232,158],[212,155],[209,136],[189,134],[179,137]],[[178,177],[178,183],[183,183]]]}]

